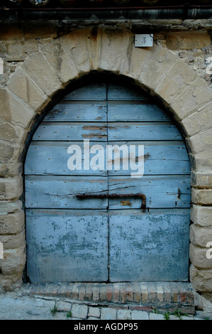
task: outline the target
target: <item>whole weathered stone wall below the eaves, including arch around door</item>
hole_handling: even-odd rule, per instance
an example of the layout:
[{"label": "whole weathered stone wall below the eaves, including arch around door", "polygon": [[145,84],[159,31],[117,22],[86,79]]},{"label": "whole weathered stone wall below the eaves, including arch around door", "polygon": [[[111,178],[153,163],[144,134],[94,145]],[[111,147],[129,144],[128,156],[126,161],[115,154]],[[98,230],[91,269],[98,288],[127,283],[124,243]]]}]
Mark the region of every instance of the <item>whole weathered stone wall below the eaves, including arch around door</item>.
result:
[{"label": "whole weathered stone wall below the eaves, including arch around door", "polygon": [[4,259],[0,259],[0,286],[4,289],[21,283],[26,263],[20,198],[29,131],[55,92],[96,70],[135,80],[160,99],[182,128],[192,168],[191,283],[211,298],[212,259],[206,258],[206,244],[212,242],[211,31],[197,30],[194,23],[186,31],[181,25],[167,26],[161,31],[155,28],[153,48],[135,48],[131,27],[126,29],[123,23],[72,32],[55,21],[2,23],[0,242]]}]

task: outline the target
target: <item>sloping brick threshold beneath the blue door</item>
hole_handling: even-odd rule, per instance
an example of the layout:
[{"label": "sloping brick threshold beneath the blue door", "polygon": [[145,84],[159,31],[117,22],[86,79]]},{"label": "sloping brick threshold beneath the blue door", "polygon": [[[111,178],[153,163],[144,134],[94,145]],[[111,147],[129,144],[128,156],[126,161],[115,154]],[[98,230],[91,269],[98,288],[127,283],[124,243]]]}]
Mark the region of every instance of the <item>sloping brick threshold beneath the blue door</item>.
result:
[{"label": "sloping brick threshold beneath the blue door", "polygon": [[195,291],[188,282],[23,284],[23,294],[65,298],[73,303],[143,311],[195,313]]}]

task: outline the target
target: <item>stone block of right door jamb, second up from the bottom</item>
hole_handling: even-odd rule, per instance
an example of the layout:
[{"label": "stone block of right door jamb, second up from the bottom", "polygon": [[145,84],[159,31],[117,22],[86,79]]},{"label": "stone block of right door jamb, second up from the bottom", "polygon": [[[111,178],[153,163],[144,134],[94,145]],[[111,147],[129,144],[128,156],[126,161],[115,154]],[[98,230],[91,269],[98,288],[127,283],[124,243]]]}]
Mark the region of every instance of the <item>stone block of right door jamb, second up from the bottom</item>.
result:
[{"label": "stone block of right door jamb, second up from the bottom", "polygon": [[191,263],[197,269],[212,269],[212,261],[206,257],[207,251],[208,248],[196,247],[194,244],[190,244]]}]

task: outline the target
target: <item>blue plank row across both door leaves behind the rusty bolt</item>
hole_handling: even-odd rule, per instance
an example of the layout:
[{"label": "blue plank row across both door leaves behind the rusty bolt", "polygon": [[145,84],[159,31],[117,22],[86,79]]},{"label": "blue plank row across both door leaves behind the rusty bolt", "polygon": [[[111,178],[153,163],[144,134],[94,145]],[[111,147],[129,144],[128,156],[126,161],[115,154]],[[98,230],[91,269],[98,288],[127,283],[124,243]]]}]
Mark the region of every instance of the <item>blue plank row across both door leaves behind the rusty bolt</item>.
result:
[{"label": "blue plank row across both door leaves behind the rusty bolt", "polygon": [[[108,200],[79,200],[77,194],[144,193],[147,208],[189,208],[189,176],[143,176],[143,178],[98,176],[26,176],[26,208],[107,208]],[[180,189],[180,198],[179,190]],[[123,209],[122,200],[110,199],[111,209]],[[130,198],[129,208],[140,208],[141,200]]]}]

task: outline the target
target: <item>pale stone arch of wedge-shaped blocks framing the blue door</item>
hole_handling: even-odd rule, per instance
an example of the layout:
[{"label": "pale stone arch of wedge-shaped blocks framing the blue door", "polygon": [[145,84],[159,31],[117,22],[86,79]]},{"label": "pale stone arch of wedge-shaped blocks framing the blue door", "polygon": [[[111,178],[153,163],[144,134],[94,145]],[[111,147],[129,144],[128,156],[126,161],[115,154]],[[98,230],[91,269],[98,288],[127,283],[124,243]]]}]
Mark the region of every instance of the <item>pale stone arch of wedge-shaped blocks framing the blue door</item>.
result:
[{"label": "pale stone arch of wedge-shaped blocks framing the blue door", "polygon": [[[212,266],[203,259],[205,247],[197,230],[202,216],[205,217],[203,226],[208,229],[208,213],[201,205],[212,203],[212,90],[167,48],[157,44],[153,48],[135,48],[134,35],[130,31],[89,27],[57,38],[26,60],[12,75],[6,90],[1,91],[1,119],[6,126],[6,138],[1,139],[6,140],[6,146],[2,152],[1,174],[4,178],[1,178],[0,186],[3,189],[1,200],[5,202],[5,220],[10,212],[18,215],[17,220],[23,220],[19,200],[23,192],[21,168],[30,129],[43,110],[55,103],[58,92],[92,71],[108,71],[131,78],[136,85],[160,99],[182,128],[191,156],[194,203],[191,217],[196,224],[191,227],[191,271],[194,286],[200,291],[206,289],[199,286],[196,277]],[[25,263],[24,236],[19,230],[16,232],[18,251],[11,254],[11,250],[8,251],[8,257],[16,259],[13,268],[7,265],[9,260],[1,266],[10,283],[21,279]],[[212,237],[212,230],[208,229],[208,232]],[[210,286],[212,291],[212,281]]]}]

